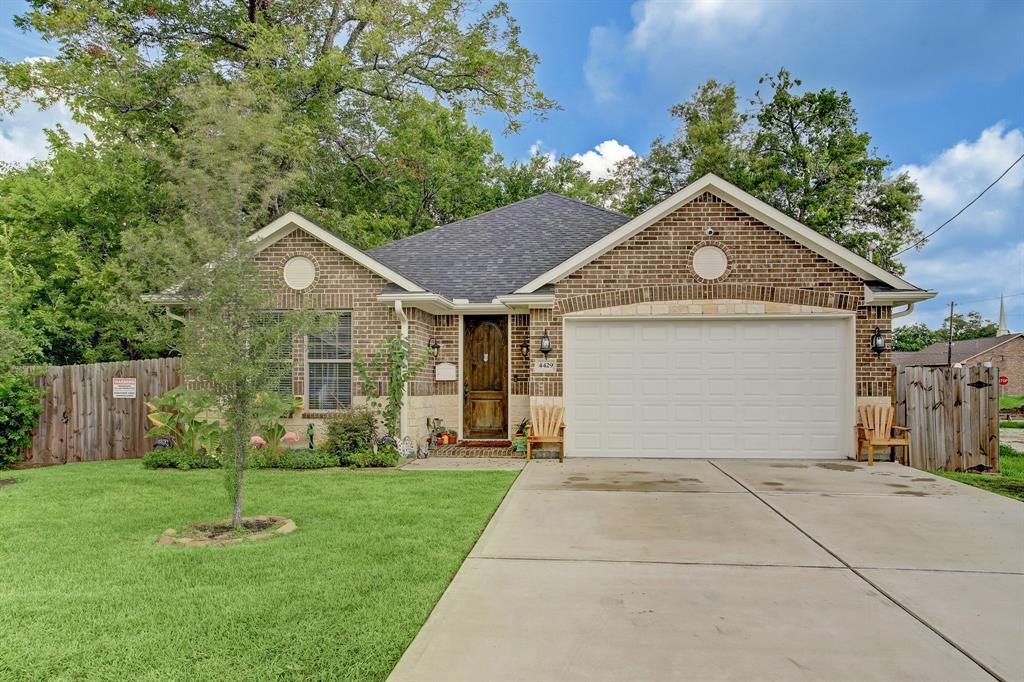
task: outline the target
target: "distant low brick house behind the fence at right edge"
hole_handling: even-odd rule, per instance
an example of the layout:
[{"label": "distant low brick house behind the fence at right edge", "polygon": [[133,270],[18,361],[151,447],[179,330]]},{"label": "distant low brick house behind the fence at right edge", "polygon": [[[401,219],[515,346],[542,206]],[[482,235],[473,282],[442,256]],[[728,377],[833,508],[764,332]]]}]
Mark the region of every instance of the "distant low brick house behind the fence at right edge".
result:
[{"label": "distant low brick house behind the fence at right edge", "polygon": [[[914,352],[893,353],[893,363],[900,367],[946,367],[948,352],[946,342],[937,341]],[[1008,379],[1001,392],[1024,395],[1024,334],[953,341],[952,363],[964,367],[991,363],[999,368],[999,376]]]}]

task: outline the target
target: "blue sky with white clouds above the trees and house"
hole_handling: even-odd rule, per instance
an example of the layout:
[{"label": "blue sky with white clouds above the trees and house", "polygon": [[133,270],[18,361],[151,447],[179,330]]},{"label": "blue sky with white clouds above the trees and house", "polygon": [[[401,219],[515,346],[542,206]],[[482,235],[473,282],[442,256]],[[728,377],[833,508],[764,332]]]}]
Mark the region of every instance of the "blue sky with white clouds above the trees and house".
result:
[{"label": "blue sky with white clouds above the trees and house", "polygon": [[[22,0],[0,0],[0,56],[53,48],[18,33]],[[531,148],[581,155],[594,173],[671,134],[668,109],[708,78],[754,95],[785,67],[810,88],[853,96],[878,152],[919,180],[929,231],[1024,154],[1024,3],[512,0],[522,42],[540,55],[538,83],[562,106],[522,132],[480,123],[509,159]],[[0,158],[44,152],[43,127],[67,112],[26,108],[0,122]],[[906,278],[939,291],[903,322],[941,322],[950,299],[994,318],[1007,295],[1024,330],[1024,162],[981,201],[907,254]]]}]

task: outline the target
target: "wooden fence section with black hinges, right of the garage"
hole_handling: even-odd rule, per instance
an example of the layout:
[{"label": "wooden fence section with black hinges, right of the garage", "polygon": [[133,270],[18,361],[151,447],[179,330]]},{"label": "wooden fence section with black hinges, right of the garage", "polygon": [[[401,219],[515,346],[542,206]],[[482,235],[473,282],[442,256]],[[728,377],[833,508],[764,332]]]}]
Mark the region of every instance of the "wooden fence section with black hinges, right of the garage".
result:
[{"label": "wooden fence section with black hinges, right of the garage", "polygon": [[999,470],[999,371],[993,367],[901,367],[896,424],[910,428],[910,465]]}]

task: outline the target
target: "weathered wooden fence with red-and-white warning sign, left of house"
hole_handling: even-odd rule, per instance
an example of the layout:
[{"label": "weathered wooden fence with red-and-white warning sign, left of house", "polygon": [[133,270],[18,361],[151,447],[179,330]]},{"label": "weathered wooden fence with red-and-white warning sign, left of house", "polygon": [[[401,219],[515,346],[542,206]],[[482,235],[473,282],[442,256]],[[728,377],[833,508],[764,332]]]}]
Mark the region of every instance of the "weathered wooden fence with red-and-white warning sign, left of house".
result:
[{"label": "weathered wooden fence with red-and-white warning sign, left of house", "polygon": [[[46,395],[26,463],[141,457],[153,444],[145,402],[181,383],[180,369],[179,357],[46,368],[36,379]],[[132,393],[131,379],[134,397],[122,397]]]}]

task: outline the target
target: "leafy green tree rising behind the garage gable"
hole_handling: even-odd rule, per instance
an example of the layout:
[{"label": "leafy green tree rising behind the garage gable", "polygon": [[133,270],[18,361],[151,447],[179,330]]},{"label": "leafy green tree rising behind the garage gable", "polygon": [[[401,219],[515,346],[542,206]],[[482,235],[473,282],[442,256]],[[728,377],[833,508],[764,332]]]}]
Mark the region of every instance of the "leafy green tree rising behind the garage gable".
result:
[{"label": "leafy green tree rising behind the garage gable", "polygon": [[712,172],[897,273],[896,253],[921,236],[921,193],[858,129],[853,100],[823,88],[799,92],[785,70],[760,81],[749,110],[735,87],[708,81],[672,109],[675,136],[616,169],[618,207],[637,214]]}]

